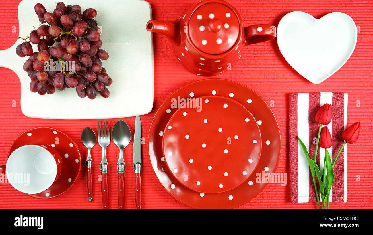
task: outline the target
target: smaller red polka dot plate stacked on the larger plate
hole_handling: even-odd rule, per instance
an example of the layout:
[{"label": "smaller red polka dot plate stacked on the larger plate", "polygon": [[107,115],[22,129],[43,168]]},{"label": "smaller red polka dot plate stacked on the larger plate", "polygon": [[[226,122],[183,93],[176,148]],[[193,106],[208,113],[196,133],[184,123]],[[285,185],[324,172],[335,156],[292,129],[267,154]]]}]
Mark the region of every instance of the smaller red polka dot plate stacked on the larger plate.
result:
[{"label": "smaller red polka dot plate stacked on the larger plate", "polygon": [[260,149],[253,115],[229,97],[189,99],[164,129],[163,155],[170,172],[200,193],[239,186],[253,173]]}]

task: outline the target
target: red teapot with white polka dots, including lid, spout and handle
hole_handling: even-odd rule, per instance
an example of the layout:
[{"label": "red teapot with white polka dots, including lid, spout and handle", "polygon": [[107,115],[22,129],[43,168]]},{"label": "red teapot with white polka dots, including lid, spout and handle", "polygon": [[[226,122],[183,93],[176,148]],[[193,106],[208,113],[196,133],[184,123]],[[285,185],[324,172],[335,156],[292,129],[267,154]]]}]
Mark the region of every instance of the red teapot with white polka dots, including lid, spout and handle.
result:
[{"label": "red teapot with white polka dots, including lid, spout and handle", "polygon": [[149,20],[146,29],[172,42],[175,57],[193,74],[214,76],[231,68],[246,45],[276,37],[267,24],[243,26],[237,10],[223,0],[203,0],[172,22]]}]

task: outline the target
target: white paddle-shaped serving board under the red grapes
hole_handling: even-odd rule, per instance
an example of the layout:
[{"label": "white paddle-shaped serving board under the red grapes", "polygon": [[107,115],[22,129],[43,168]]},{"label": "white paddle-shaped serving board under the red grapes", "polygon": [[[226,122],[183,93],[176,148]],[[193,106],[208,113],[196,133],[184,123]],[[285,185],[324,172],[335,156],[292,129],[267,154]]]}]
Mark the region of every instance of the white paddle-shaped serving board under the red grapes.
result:
[{"label": "white paddle-shaped serving board under the red grapes", "polygon": [[[32,26],[40,25],[34,5],[41,3],[48,12],[53,12],[60,0],[23,0],[18,6],[19,35],[28,36]],[[66,5],[77,3],[65,0]],[[94,18],[102,26],[102,49],[109,53],[109,59],[102,66],[113,79],[108,87],[110,97],[104,99],[97,94],[90,100],[78,97],[75,88],[66,88],[52,95],[40,96],[29,90],[30,78],[23,71],[28,57],[18,57],[16,46],[22,39],[0,51],[0,66],[13,70],[21,80],[21,109],[32,118],[49,119],[98,119],[122,118],[144,115],[153,108],[153,40],[151,32],[145,29],[151,19],[151,7],[143,0],[90,0],[79,1],[82,11],[97,10]],[[37,45],[33,44],[34,51]],[[4,59],[6,58],[6,59]]]}]

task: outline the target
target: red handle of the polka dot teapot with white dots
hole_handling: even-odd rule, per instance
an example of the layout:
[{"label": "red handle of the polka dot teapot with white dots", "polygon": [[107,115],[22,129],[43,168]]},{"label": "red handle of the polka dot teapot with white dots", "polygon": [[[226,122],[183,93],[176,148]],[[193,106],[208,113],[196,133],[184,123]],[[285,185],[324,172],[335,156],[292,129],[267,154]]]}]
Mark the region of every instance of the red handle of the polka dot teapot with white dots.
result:
[{"label": "red handle of the polka dot teapot with white dots", "polygon": [[250,45],[276,38],[276,27],[266,24],[251,25],[244,28],[244,33],[244,44]]}]

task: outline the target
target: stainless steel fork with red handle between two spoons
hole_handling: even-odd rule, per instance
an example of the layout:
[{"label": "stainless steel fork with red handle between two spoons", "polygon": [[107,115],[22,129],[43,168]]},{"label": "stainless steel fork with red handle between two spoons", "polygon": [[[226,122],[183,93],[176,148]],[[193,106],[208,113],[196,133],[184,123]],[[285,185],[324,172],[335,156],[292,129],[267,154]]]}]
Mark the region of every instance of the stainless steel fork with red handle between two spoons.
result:
[{"label": "stainless steel fork with red handle between two spoons", "polygon": [[102,176],[102,182],[101,182],[101,195],[102,195],[102,207],[103,209],[109,209],[109,181],[107,180],[107,160],[106,160],[106,147],[110,144],[110,129],[109,124],[106,120],[106,126],[104,121],[104,126],[101,122],[101,128],[100,123],[97,120],[97,126],[98,126],[98,144],[102,148],[102,158],[101,158],[101,165],[100,165],[100,171]]}]

